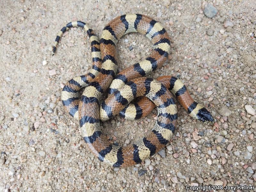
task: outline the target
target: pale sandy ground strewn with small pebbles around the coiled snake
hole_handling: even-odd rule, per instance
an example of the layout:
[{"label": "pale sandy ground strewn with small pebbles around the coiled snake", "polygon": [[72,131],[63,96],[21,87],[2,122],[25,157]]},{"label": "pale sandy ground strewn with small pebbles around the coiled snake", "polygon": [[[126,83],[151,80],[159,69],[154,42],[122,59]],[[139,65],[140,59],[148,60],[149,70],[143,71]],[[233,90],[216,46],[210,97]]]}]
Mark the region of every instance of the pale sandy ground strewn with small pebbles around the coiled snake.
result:
[{"label": "pale sandy ground strewn with small pebbles around the coiled snake", "polygon": [[[208,3],[218,10],[212,19],[204,15]],[[207,126],[178,105],[177,130],[167,148],[134,167],[114,169],[85,148],[78,123],[60,101],[64,84],[91,66],[87,35],[72,29],[54,57],[51,50],[57,32],[69,21],[85,21],[100,35],[108,21],[125,13],[146,14],[163,24],[172,37],[172,52],[152,76],[178,76],[218,121]],[[255,186],[255,34],[252,0],[2,0],[0,191]],[[121,69],[152,50],[140,34],[124,36],[117,47]],[[136,121],[116,116],[102,123],[102,130],[125,145],[146,134],[155,117],[156,110]]]}]

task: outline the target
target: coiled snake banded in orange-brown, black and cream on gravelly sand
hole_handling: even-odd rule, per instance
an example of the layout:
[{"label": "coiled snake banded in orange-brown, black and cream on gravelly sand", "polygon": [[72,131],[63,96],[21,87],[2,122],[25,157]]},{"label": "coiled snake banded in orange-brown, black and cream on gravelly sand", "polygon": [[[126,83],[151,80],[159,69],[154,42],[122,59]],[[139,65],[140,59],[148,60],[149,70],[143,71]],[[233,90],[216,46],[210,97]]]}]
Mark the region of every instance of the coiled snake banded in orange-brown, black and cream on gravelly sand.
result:
[{"label": "coiled snake banded in orange-brown, black and cream on gravelly sand", "polygon": [[[87,148],[101,162],[113,167],[127,167],[140,164],[161,150],[176,129],[177,106],[172,94],[192,118],[208,125],[216,121],[203,105],[190,96],[179,78],[146,77],[160,68],[171,52],[170,37],[156,20],[142,14],[118,16],[103,28],[100,39],[86,23],[70,22],[59,31],[52,55],[63,33],[73,27],[84,29],[89,36],[92,69],[69,80],[63,87],[61,100],[68,113],[79,121]],[[117,73],[117,42],[132,32],[145,35],[153,43],[153,50],[144,60]],[[82,88],[84,91],[79,97]],[[107,93],[108,98],[101,102]],[[107,121],[115,115],[140,119],[155,107],[157,120],[153,129],[132,144],[115,145],[100,129],[100,121]]]}]

